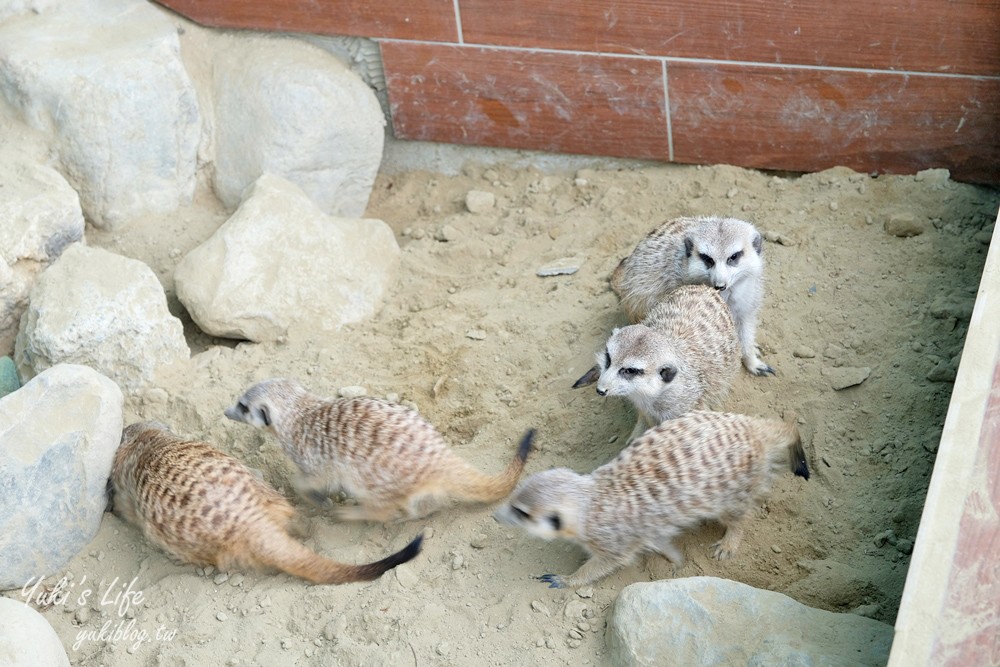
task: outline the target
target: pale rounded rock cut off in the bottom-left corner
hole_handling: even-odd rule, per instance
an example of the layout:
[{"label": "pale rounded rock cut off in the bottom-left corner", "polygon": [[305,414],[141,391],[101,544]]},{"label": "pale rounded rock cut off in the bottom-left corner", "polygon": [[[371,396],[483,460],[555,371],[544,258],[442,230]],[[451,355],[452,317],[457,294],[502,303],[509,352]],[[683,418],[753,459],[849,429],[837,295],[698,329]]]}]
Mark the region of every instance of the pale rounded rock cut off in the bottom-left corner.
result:
[{"label": "pale rounded rock cut off in the bottom-left corner", "polygon": [[20,600],[0,597],[0,658],[5,667],[69,667],[66,649],[45,617]]}]

